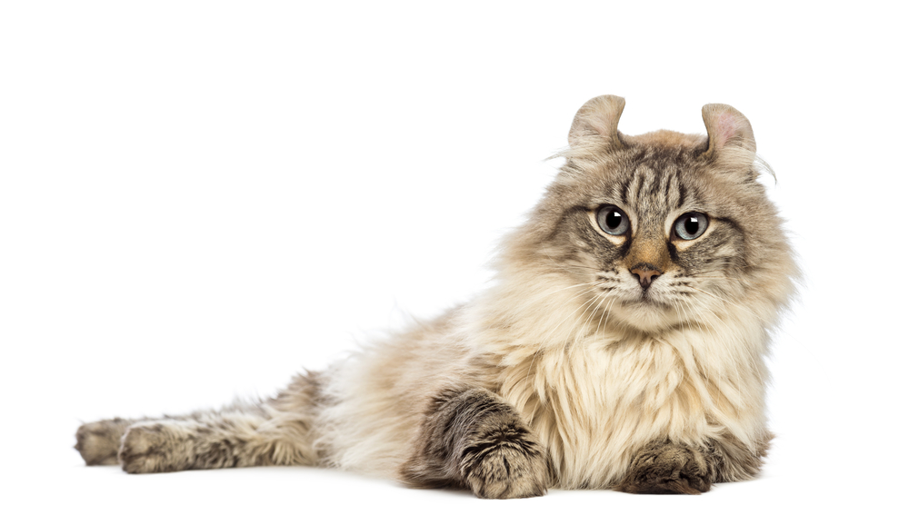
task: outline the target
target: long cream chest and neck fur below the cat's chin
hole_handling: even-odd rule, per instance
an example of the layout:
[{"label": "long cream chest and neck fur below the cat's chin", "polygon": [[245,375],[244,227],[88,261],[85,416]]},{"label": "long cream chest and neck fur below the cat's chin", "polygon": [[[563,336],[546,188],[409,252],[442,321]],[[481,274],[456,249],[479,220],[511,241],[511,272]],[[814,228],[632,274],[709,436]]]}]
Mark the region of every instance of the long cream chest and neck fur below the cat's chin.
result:
[{"label": "long cream chest and neck fur below the cat's chin", "polygon": [[[544,442],[561,487],[610,485],[622,472],[615,465],[658,436],[764,446],[758,317],[732,309],[720,322],[644,332],[591,318],[584,301],[560,303],[561,293],[572,296],[515,306],[500,290],[463,312],[470,346],[500,371],[497,388]],[[506,303],[521,312],[494,312]]]}]

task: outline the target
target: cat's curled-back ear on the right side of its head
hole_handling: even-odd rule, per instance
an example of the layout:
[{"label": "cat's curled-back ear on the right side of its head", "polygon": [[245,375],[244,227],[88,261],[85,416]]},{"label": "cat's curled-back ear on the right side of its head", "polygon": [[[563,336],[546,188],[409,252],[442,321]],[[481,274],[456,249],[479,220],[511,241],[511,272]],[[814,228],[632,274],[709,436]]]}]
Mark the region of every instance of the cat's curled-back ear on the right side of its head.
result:
[{"label": "cat's curled-back ear on the right side of its head", "polygon": [[754,132],[744,114],[731,105],[706,104],[701,110],[707,126],[707,151],[704,157],[714,160],[754,162]]}]

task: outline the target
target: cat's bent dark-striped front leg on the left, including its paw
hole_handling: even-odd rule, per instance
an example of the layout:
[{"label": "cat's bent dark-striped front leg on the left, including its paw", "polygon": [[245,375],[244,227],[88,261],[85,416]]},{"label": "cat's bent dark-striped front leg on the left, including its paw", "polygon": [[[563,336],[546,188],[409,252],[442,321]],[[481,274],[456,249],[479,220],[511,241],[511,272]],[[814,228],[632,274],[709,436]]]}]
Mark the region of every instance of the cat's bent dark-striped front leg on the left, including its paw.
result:
[{"label": "cat's bent dark-striped front leg on the left, including its paw", "polygon": [[492,391],[440,394],[431,403],[401,476],[415,487],[466,487],[480,498],[542,496],[544,449],[514,408]]}]

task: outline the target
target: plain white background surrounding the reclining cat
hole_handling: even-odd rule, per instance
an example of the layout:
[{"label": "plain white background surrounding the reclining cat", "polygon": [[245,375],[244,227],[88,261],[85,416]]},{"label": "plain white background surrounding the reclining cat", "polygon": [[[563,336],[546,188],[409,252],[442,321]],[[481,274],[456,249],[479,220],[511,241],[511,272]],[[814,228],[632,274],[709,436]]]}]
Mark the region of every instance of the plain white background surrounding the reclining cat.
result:
[{"label": "plain white background surrounding the reclining cat", "polygon": [[[4,3],[5,515],[904,521],[909,43],[889,5]],[[267,396],[468,300],[606,93],[627,134],[703,133],[701,106],[732,104],[777,173],[805,280],[761,479],[483,501],[316,469],[82,465],[80,421]]]}]

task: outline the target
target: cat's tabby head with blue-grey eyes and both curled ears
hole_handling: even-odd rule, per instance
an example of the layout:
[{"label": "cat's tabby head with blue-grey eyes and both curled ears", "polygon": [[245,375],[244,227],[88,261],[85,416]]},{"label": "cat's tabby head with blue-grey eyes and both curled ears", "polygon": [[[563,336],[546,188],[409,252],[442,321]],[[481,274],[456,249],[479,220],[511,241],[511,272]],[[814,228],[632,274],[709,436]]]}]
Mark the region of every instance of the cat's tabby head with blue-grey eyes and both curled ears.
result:
[{"label": "cat's tabby head with blue-grey eyes and both curled ears", "polygon": [[795,266],[756,180],[751,124],[707,104],[706,136],[629,136],[617,128],[623,109],[604,95],[575,115],[564,166],[506,243],[509,285],[550,301],[570,295],[559,314],[574,309],[585,330],[659,332],[730,315],[774,324]]}]

